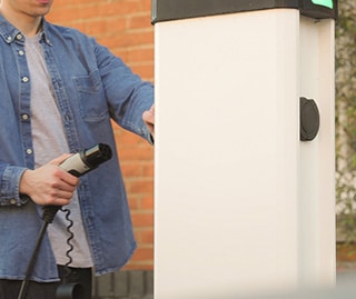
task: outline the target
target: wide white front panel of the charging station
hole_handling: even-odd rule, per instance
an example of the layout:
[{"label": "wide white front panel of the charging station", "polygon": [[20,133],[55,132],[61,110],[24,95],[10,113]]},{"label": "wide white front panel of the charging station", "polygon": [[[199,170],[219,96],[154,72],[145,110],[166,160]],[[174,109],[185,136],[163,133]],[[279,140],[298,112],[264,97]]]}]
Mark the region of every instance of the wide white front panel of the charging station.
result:
[{"label": "wide white front panel of the charging station", "polygon": [[299,12],[155,30],[155,299],[297,287]]}]

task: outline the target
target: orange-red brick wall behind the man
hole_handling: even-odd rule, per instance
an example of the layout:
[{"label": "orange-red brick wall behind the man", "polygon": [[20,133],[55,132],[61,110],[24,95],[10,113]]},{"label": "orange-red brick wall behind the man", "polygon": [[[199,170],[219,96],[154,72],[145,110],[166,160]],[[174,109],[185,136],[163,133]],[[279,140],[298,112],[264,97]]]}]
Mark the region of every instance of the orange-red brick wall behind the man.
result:
[{"label": "orange-red brick wall behind the man", "polygon": [[[77,28],[121,57],[134,72],[154,80],[151,0],[55,0],[47,19]],[[154,149],[115,126],[138,241],[126,269],[154,268]]]}]

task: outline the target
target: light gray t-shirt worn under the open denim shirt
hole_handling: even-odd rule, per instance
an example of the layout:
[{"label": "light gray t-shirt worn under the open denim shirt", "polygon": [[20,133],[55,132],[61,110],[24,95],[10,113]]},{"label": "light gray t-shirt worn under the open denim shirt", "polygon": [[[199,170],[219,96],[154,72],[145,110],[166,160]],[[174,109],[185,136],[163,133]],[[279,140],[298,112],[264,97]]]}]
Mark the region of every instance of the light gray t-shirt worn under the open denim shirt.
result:
[{"label": "light gray t-shirt worn under the open denim shirt", "polygon": [[[30,70],[31,83],[31,126],[34,149],[36,168],[43,166],[53,158],[69,152],[67,138],[63,131],[61,116],[57,107],[57,100],[48,73],[42,47],[39,43],[41,34],[26,39],[26,56]],[[71,240],[73,251],[71,267],[92,267],[92,258],[87,239],[87,233],[82,225],[79,199],[75,193],[70,205],[70,219],[73,221],[71,231],[75,238]],[[42,212],[42,209],[39,209]],[[58,265],[66,265],[69,259],[66,252],[70,249],[67,239],[69,222],[66,213],[58,211],[55,220],[48,226],[48,233]]]}]

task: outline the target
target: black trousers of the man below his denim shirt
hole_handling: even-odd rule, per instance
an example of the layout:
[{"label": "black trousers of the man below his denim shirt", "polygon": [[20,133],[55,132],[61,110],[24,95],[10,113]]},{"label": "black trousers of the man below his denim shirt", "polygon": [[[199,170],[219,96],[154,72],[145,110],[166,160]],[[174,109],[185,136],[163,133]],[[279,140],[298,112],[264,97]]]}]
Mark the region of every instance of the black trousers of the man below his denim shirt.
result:
[{"label": "black trousers of the man below his denim shirt", "polygon": [[[61,282],[30,281],[24,299],[90,299],[92,287],[91,268],[58,266]],[[18,299],[22,280],[0,279],[0,299]]]}]

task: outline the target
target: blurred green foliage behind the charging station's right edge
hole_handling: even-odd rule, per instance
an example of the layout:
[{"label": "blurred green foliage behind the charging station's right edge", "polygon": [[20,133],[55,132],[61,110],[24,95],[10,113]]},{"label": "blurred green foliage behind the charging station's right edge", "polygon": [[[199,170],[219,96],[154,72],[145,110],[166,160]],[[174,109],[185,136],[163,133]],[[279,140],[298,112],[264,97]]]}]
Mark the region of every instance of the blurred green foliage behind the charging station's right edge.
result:
[{"label": "blurred green foliage behind the charging station's right edge", "polygon": [[336,23],[337,231],[356,242],[356,3],[339,1]]}]

